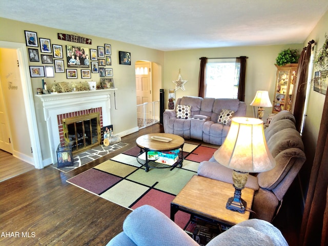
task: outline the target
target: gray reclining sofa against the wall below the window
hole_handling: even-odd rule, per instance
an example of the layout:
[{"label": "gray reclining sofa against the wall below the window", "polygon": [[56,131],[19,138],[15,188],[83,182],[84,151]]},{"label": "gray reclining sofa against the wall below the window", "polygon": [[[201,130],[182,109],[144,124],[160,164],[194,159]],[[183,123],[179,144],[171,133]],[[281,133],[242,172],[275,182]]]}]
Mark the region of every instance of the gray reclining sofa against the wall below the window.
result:
[{"label": "gray reclining sofa against the wall below the window", "polygon": [[[178,105],[191,106],[188,119],[177,117]],[[218,123],[222,109],[234,111],[234,117],[246,115],[246,104],[238,99],[183,96],[176,100],[174,110],[163,113],[164,132],[185,139],[193,138],[213,145],[222,145],[230,129],[229,124]]]}]

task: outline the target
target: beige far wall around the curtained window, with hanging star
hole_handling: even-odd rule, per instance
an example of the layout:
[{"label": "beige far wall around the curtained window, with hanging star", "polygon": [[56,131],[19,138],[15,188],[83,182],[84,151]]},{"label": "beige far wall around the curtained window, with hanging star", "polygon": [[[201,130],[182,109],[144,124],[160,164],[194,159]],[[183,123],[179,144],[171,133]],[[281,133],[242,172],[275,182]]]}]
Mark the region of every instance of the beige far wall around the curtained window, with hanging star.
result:
[{"label": "beige far wall around the curtained window, with hanging star", "polygon": [[[245,102],[248,105],[247,116],[254,117],[253,107],[250,106],[257,90],[269,91],[273,101],[277,68],[274,65],[281,50],[291,48],[301,51],[302,44],[229,47],[171,51],[165,53],[164,81],[165,89],[175,88],[172,80],[178,78],[179,69],[183,79],[188,80],[185,91],[177,90],[175,97],[198,95],[199,57],[238,57],[248,56],[246,70]],[[166,91],[166,93],[168,93]],[[272,108],[265,108],[263,120],[266,121]]]}]

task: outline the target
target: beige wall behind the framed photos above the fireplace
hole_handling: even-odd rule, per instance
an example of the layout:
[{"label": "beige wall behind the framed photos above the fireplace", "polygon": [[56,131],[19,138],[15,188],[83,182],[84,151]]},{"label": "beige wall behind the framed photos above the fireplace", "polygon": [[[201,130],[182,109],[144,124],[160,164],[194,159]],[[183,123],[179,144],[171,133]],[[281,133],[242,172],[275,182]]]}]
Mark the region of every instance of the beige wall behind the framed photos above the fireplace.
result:
[{"label": "beige wall behind the framed photos above the fireplace", "polygon": [[[16,42],[25,44],[24,30],[33,31],[37,33],[38,38],[49,38],[51,40],[51,45],[61,45],[63,46],[64,57],[67,56],[65,47],[66,45],[78,45],[77,43],[66,42],[59,40],[57,38],[57,33],[67,33],[73,34],[72,32],[65,30],[57,30],[53,28],[48,28],[44,26],[32,25],[22,22],[17,22],[15,20],[0,18],[0,23],[2,25],[2,31],[0,32],[0,40],[7,42]],[[148,49],[145,47],[135,46],[123,42],[118,42],[111,39],[105,39],[100,37],[95,37],[83,33],[78,33],[77,35],[88,37],[92,39],[92,45],[85,45],[89,49],[97,49],[97,46],[104,46],[104,44],[110,44],[112,48],[112,66],[107,66],[107,68],[113,68],[113,78],[115,87],[118,89],[115,91],[116,94],[116,108],[114,108],[114,96],[112,93],[111,97],[111,119],[114,126],[115,134],[121,133],[122,135],[127,135],[137,129],[136,120],[136,89],[135,89],[135,67],[134,64],[137,60],[149,60],[156,64],[155,72],[155,82],[160,84],[156,85],[161,87],[162,71],[164,64],[164,52]],[[80,45],[83,46],[83,45]],[[28,48],[28,47],[27,47]],[[34,47],[29,47],[34,48]],[[40,48],[39,54],[40,54]],[[119,65],[118,63],[118,51],[131,52],[131,66]],[[26,49],[28,52],[28,49]],[[66,64],[66,58],[64,58],[64,64]],[[29,66],[44,66],[42,63],[30,62]],[[79,81],[100,81],[98,73],[92,73],[91,79],[83,79],[80,77],[80,69],[77,69],[78,79],[74,79],[76,82]],[[60,81],[69,81],[72,79],[67,79],[65,73],[55,73],[54,78],[44,78],[47,85]],[[36,88],[40,87],[42,82],[41,78],[31,78],[32,90],[36,94]],[[159,92],[158,92],[159,93]],[[19,98],[17,98],[19,100]],[[48,137],[45,134],[47,130],[46,122],[44,120],[42,104],[37,97],[34,97],[36,120],[38,122],[38,131],[40,133],[40,146],[42,148],[43,159],[50,158],[50,151],[48,145]]]}]

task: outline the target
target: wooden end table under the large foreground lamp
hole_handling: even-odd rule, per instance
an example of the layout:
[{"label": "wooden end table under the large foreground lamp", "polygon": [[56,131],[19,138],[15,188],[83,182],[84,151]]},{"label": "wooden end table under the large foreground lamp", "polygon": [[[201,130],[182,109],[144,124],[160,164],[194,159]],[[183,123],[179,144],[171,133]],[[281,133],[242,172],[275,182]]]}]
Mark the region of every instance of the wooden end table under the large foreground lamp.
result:
[{"label": "wooden end table under the large foreground lamp", "polygon": [[[229,197],[233,197],[235,188],[230,183],[194,175],[186,186],[171,202],[171,219],[178,210],[203,220],[231,227],[249,219],[250,212],[244,214],[226,209]],[[242,199],[252,208],[254,190],[244,188]]]}]

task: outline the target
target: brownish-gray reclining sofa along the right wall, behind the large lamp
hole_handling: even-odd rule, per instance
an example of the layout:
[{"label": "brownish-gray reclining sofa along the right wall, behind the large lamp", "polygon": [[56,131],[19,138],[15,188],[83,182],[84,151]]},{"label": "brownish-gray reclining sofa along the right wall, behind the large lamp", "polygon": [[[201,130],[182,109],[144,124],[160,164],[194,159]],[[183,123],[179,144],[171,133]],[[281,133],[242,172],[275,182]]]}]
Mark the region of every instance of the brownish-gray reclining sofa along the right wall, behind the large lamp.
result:
[{"label": "brownish-gray reclining sofa along the right wall, behind the large lamp", "polygon": [[[264,135],[276,167],[249,175],[245,187],[255,190],[252,206],[254,217],[271,222],[305,162],[305,154],[301,136],[295,128],[295,117],[289,111],[279,112],[265,128]],[[200,163],[198,175],[233,183],[232,170],[220,165],[214,157]]]}]

